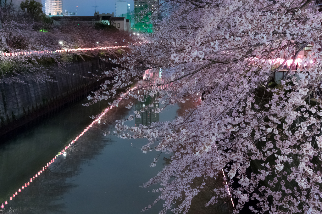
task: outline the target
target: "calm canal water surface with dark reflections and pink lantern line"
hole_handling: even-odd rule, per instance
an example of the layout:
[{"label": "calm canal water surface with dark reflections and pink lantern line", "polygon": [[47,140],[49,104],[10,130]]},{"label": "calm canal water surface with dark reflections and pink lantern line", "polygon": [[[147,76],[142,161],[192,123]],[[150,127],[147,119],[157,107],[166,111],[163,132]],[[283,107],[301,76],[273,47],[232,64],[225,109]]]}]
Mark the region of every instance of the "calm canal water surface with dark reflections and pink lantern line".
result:
[{"label": "calm canal water surface with dark reflections and pink lantern line", "polygon": [[[162,170],[166,164],[163,158],[168,156],[161,154],[156,167],[150,167],[159,152],[142,153],[140,148],[147,143],[146,139],[125,140],[104,133],[113,132],[115,120],[126,119],[147,104],[154,103],[149,110],[162,105],[150,98],[147,102],[136,101],[127,109],[127,100],[106,110],[107,102],[90,107],[81,105],[85,102],[75,103],[46,121],[25,127],[10,139],[1,140],[0,205],[5,201],[8,204],[0,213],[15,210],[15,213],[32,214],[135,214],[154,202],[158,193],[152,190],[158,186],[141,188],[140,185]],[[90,116],[104,111],[89,127],[95,120]],[[140,119],[125,124],[138,126],[167,121],[178,112],[178,106],[162,113],[146,111]],[[87,131],[70,144],[84,130]],[[47,163],[50,163],[48,167]],[[161,209],[159,202],[145,213],[158,213]]]}]

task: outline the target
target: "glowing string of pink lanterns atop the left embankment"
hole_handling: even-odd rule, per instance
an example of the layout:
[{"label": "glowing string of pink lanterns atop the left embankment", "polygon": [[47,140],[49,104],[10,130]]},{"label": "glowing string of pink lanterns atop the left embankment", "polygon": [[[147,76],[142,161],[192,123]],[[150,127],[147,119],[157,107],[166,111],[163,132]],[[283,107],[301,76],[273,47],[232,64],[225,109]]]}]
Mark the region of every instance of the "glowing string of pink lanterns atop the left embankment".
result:
[{"label": "glowing string of pink lanterns atop the left embankment", "polygon": [[87,51],[97,51],[97,50],[107,50],[107,49],[115,49],[115,48],[125,48],[127,45],[123,46],[109,46],[109,47],[97,47],[97,48],[77,48],[77,49],[63,49],[63,50],[55,50],[55,51],[30,51],[30,52],[16,52],[16,53],[2,53],[5,56],[20,56],[20,55],[32,55],[32,54],[46,54],[46,53],[79,53],[79,52],[87,52]]}]

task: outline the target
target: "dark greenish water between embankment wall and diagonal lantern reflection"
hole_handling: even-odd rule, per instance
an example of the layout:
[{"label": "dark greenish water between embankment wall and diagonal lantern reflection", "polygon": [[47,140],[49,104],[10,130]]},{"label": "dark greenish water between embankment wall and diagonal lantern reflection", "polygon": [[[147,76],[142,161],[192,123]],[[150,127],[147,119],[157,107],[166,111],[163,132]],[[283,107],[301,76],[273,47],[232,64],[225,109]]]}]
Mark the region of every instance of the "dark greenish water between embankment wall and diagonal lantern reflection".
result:
[{"label": "dark greenish water between embankment wall and diagonal lantern reflection", "polygon": [[107,105],[107,102],[102,102],[85,108],[77,103],[33,128],[24,127],[20,132],[14,133],[10,140],[1,140],[1,203],[9,200],[30,177],[52,160],[66,142],[80,133],[82,127],[92,121],[90,115],[101,112]]}]

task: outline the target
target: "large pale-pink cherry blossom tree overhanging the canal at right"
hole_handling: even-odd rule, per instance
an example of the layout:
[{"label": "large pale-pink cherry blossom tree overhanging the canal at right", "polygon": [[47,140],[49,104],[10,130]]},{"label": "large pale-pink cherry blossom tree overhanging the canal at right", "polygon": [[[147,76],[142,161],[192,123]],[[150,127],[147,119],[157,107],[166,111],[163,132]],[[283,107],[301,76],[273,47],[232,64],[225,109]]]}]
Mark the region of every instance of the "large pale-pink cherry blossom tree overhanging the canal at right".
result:
[{"label": "large pale-pink cherry blossom tree overhanging the canal at right", "polygon": [[[223,171],[228,185],[214,187],[204,206],[232,198],[234,213],[322,213],[320,6],[313,0],[160,1],[157,11],[168,15],[156,21],[155,32],[136,37],[132,52],[114,61],[122,67],[104,72],[114,81],[90,102],[116,97],[117,89],[151,69],[161,77],[123,99],[159,93],[164,106],[197,103],[172,121],[116,125],[121,138],[147,138],[143,152],[171,154],[144,184],[161,185],[155,190],[155,203],[163,201],[160,213],[187,213],[207,185],[199,181]],[[277,87],[268,88],[273,73],[287,60],[292,67],[308,45],[308,66],[288,69]],[[276,58],[283,60],[272,70]]]}]

